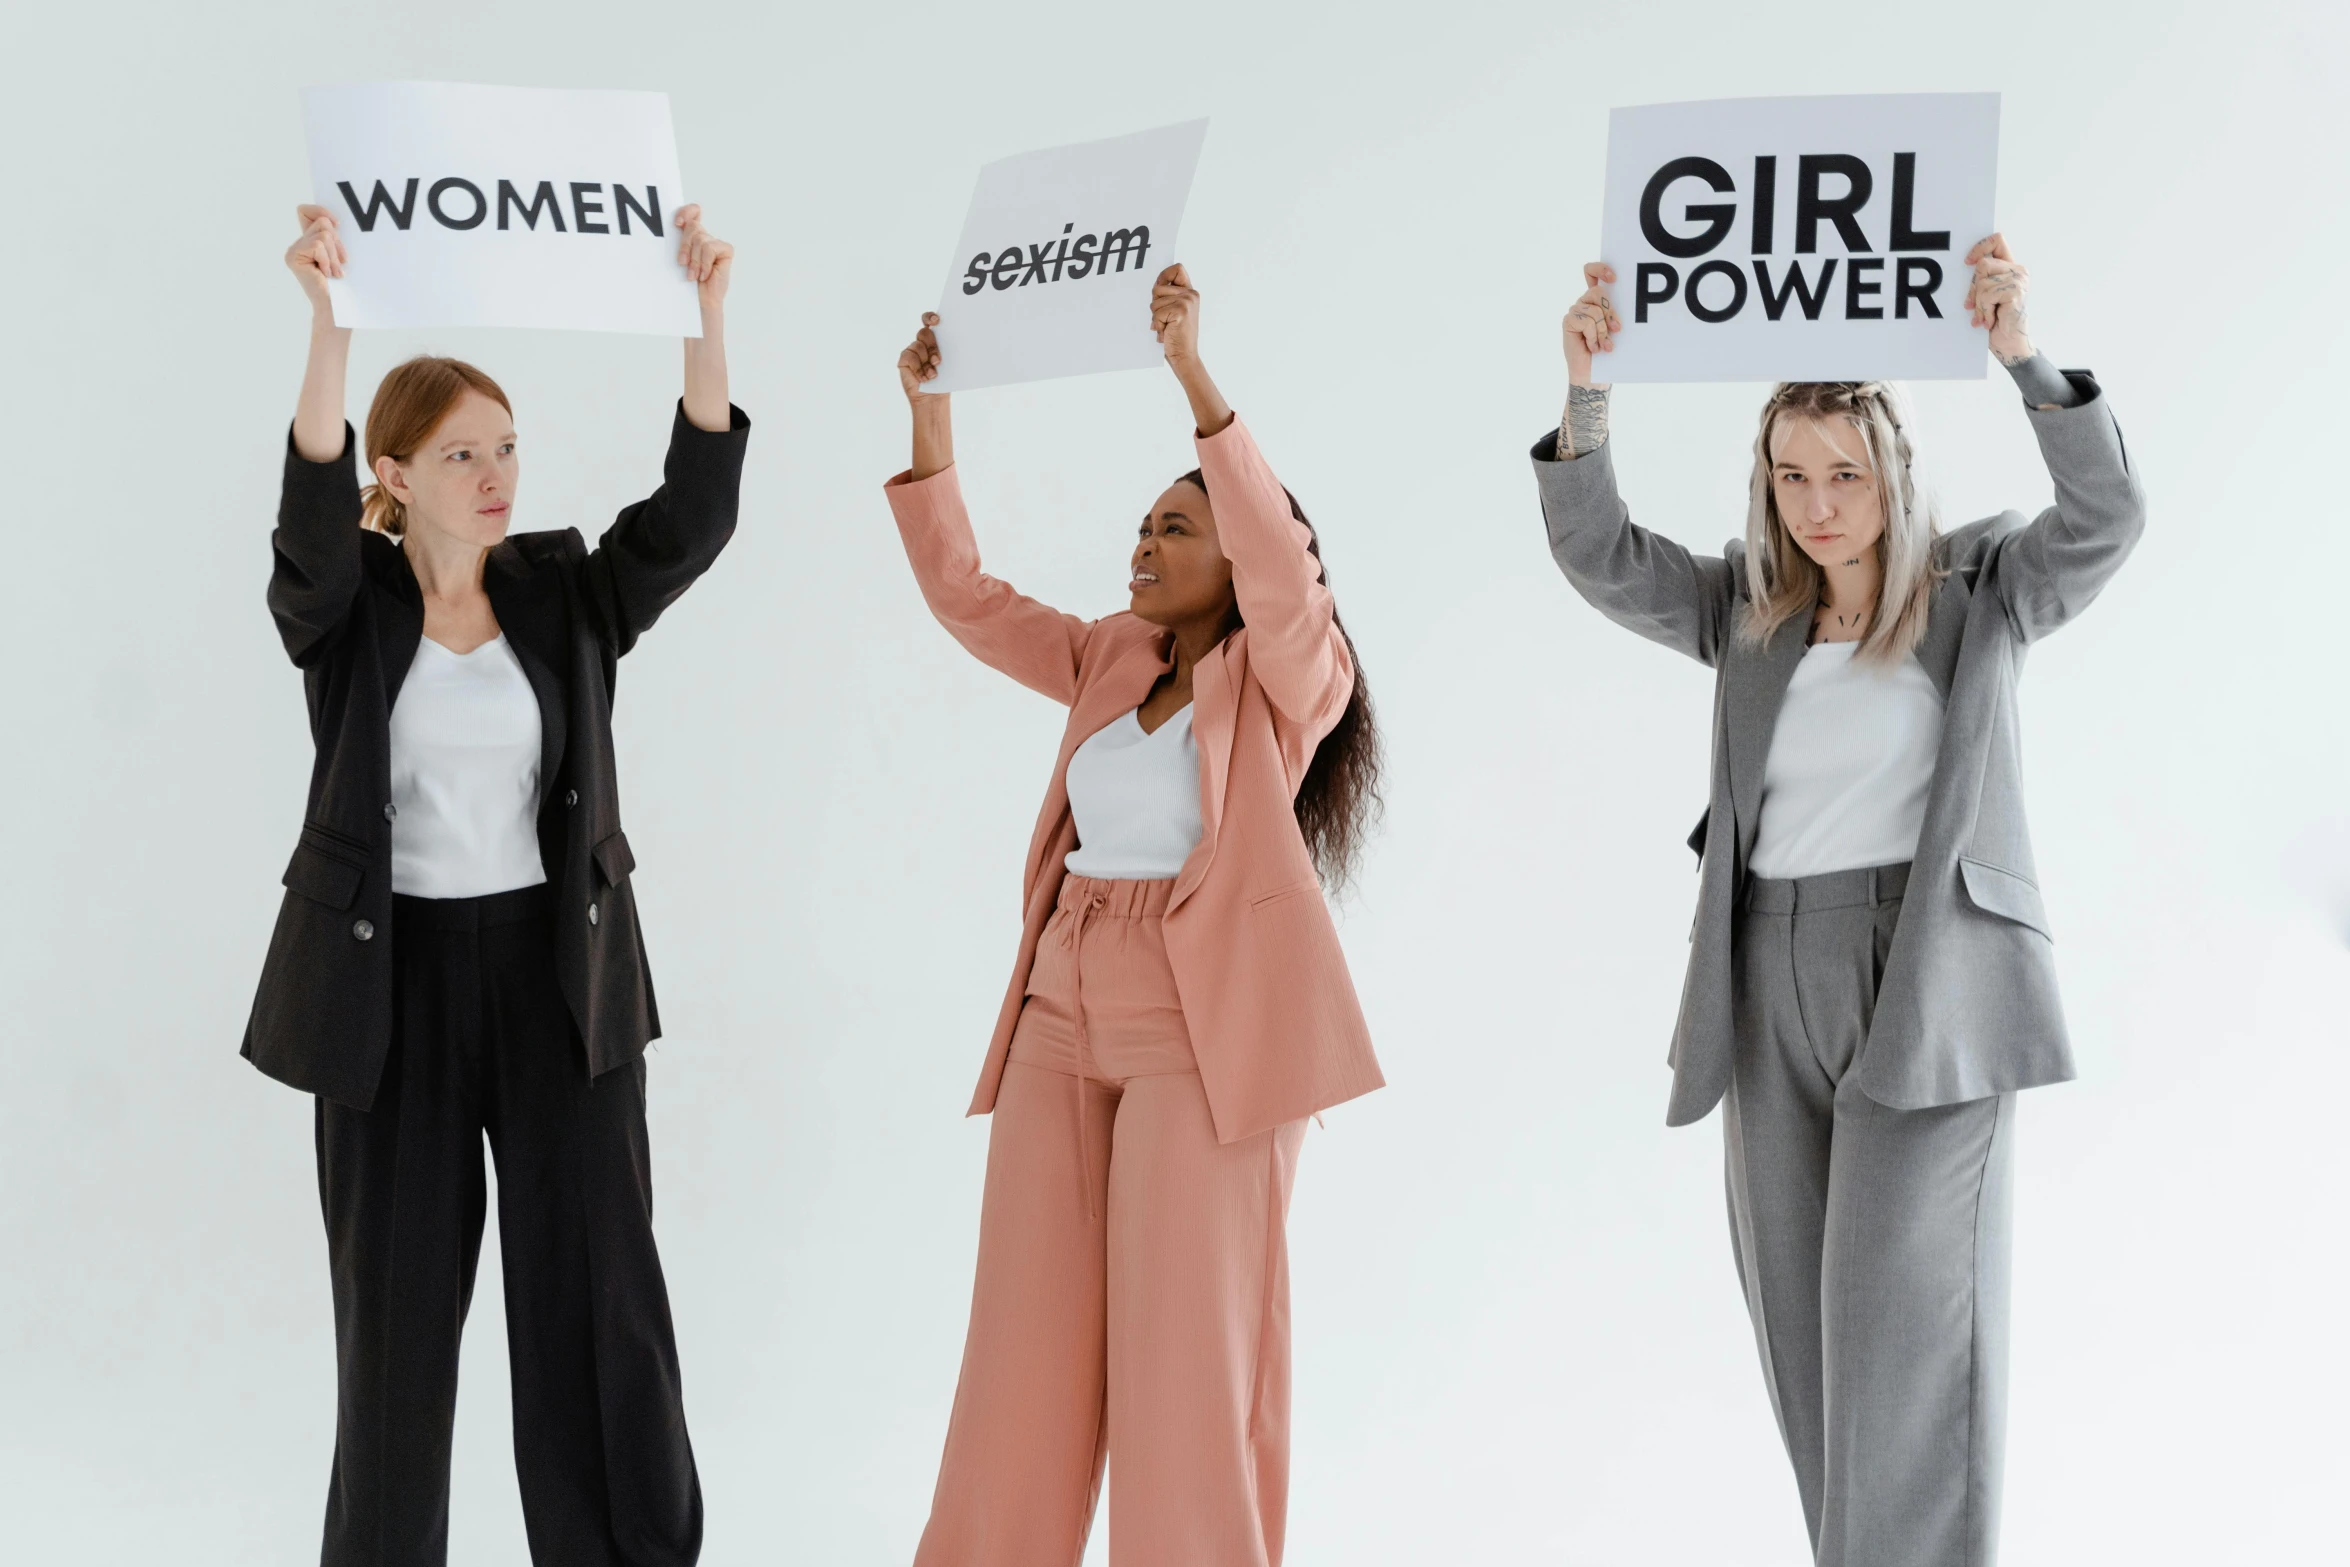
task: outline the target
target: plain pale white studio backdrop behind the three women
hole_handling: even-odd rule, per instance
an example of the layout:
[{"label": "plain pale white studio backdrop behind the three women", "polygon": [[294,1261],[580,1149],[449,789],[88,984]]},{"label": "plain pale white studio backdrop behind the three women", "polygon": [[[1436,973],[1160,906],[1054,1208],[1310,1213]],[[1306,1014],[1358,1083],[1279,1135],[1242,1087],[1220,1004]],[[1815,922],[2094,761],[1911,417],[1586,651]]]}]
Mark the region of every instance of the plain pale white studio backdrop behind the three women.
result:
[{"label": "plain pale white studio backdrop behind the three women", "polygon": [[[1723,1219],[1661,1125],[1711,681],[1551,566],[1528,444],[1610,103],[1998,89],[2035,324],[2110,388],[2146,545],[2026,681],[2082,1081],[2026,1097],[2009,1567],[2338,1553],[2350,1395],[2341,12],[2049,5],[47,7],[0,94],[0,1558],[317,1560],[334,1344],[310,1107],[237,1060],[303,808],[263,611],[308,317],[296,89],[667,89],[743,247],[743,531],[627,660],[670,1038],[660,1245],[705,1560],[912,1555],[968,1302],[961,1109],[1060,712],[924,613],[891,362],[973,164],[1215,115],[1206,352],[1323,529],[1389,733],[1344,914],[1391,1088],[1307,1139],[1290,1562],[1802,1562]],[[679,350],[362,336],[515,395],[519,526],[656,479]],[[992,566],[1121,604],[1191,465],[1140,374],[959,399]],[[1624,486],[1737,529],[1760,388],[1631,388]],[[1920,388],[1953,519],[2040,505],[2012,388]],[[454,1560],[524,1560],[484,1257]]]}]

